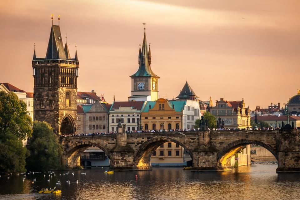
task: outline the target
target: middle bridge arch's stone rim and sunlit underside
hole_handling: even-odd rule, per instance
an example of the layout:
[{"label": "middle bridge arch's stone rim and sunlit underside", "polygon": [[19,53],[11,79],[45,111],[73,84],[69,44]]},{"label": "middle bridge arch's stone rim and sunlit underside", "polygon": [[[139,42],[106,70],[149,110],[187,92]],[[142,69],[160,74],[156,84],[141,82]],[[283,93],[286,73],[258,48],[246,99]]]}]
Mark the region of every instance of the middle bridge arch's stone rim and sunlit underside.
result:
[{"label": "middle bridge arch's stone rim and sunlit underside", "polygon": [[163,143],[166,142],[173,142],[176,144],[179,144],[182,146],[187,153],[191,156],[192,158],[192,151],[182,142],[178,141],[177,139],[170,138],[167,136],[158,136],[158,137],[153,137],[142,143],[138,150],[134,153],[133,156],[133,162],[135,166],[140,169],[150,169],[151,168],[151,163],[150,163],[150,157],[153,154],[153,152]]}]

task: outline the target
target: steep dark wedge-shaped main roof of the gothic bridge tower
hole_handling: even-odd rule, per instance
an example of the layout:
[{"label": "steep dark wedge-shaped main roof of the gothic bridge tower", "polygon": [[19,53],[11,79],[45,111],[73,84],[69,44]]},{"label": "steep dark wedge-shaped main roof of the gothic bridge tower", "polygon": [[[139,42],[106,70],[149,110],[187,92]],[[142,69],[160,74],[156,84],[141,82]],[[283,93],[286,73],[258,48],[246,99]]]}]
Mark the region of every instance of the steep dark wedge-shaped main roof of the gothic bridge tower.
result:
[{"label": "steep dark wedge-shaped main roof of the gothic bridge tower", "polygon": [[57,25],[52,25],[47,47],[46,59],[66,59],[62,35]]}]

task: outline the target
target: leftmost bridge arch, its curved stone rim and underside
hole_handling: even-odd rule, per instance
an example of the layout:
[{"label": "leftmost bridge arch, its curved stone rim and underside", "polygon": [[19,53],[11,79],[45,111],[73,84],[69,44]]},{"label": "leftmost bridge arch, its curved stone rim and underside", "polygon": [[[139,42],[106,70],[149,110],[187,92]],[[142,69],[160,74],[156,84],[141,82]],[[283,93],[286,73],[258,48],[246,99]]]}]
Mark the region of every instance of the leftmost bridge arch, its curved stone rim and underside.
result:
[{"label": "leftmost bridge arch, its curved stone rim and underside", "polygon": [[69,168],[73,168],[76,166],[80,166],[80,155],[89,147],[98,147],[101,149],[107,157],[111,160],[112,156],[109,153],[109,151],[101,146],[98,143],[93,143],[90,141],[80,141],[77,143],[74,143],[73,145],[69,146],[67,148],[67,155],[68,155],[68,166]]}]

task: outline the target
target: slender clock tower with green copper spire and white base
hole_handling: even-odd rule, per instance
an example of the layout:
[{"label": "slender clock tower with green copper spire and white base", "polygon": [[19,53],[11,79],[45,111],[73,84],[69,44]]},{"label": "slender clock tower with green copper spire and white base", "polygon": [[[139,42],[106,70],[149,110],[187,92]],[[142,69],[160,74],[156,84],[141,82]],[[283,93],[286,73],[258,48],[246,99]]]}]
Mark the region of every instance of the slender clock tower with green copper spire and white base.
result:
[{"label": "slender clock tower with green copper spire and white base", "polygon": [[158,99],[158,79],[151,69],[151,50],[146,40],[146,29],[144,28],[144,40],[138,52],[138,71],[130,76],[131,96],[128,101],[156,101]]}]

